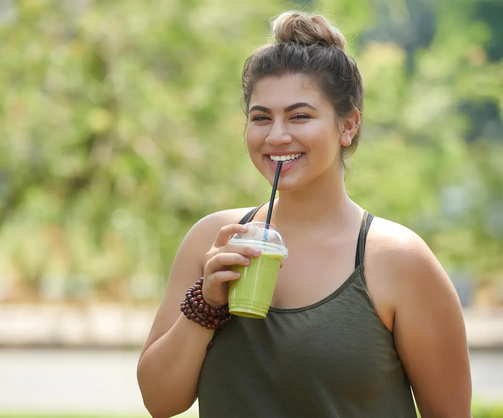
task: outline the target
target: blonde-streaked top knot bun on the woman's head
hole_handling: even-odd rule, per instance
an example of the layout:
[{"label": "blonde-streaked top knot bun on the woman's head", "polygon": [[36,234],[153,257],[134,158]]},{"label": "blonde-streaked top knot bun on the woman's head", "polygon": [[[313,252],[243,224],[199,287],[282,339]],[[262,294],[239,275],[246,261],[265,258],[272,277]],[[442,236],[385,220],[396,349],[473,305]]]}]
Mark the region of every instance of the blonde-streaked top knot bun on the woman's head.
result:
[{"label": "blonde-streaked top knot bun on the woman's head", "polygon": [[320,15],[309,16],[300,12],[285,12],[271,25],[276,42],[298,42],[307,45],[322,42],[345,50],[346,38]]}]

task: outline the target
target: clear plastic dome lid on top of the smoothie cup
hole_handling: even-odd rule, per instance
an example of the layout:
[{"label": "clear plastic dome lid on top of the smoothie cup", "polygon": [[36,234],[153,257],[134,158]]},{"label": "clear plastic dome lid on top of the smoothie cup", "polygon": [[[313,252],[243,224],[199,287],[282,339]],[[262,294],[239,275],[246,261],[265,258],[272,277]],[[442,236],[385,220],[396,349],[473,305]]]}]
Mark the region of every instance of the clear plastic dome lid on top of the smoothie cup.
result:
[{"label": "clear plastic dome lid on top of the smoothie cup", "polygon": [[248,227],[245,234],[234,234],[229,241],[229,245],[246,245],[257,247],[264,254],[281,254],[288,257],[288,249],[285,247],[280,233],[272,225],[266,228],[264,222],[248,222],[244,224]]}]

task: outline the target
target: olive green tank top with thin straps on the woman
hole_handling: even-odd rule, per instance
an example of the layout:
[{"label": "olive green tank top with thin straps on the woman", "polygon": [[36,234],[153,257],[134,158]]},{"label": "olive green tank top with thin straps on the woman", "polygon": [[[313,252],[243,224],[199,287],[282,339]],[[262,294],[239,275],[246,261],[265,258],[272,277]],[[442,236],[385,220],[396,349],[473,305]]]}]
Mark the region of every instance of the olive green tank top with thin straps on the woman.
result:
[{"label": "olive green tank top with thin straps on the woman", "polygon": [[365,212],[355,271],[339,289],[302,308],[271,307],[265,319],[233,316],[222,327],[199,377],[200,417],[416,416],[393,334],[365,284],[371,220]]}]

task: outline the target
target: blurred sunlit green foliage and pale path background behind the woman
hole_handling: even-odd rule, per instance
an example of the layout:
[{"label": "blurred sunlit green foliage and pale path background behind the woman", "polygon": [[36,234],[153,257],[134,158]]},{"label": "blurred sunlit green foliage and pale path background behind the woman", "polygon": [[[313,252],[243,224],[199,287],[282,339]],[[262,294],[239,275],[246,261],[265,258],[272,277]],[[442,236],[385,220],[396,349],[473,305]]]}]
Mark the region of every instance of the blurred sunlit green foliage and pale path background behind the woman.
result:
[{"label": "blurred sunlit green foliage and pale path background behind the woman", "polygon": [[148,416],[136,363],[181,240],[269,199],[240,73],[290,9],[347,37],[348,192],[437,255],[473,416],[503,416],[500,0],[0,0],[0,416]]}]

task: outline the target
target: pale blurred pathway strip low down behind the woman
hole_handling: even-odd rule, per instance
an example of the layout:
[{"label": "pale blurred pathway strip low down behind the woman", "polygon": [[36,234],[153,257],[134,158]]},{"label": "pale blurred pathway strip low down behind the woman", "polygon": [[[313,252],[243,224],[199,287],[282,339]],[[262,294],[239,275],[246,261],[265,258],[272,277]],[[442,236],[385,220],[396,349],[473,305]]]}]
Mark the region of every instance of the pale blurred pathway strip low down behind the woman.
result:
[{"label": "pale blurred pathway strip low down behind the woman", "polygon": [[[145,413],[139,351],[2,349],[0,411]],[[474,399],[503,403],[503,351],[471,354]],[[197,416],[197,404],[189,416]],[[184,414],[186,415],[186,414]]]}]

